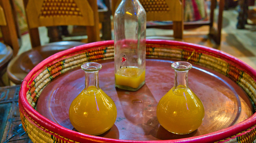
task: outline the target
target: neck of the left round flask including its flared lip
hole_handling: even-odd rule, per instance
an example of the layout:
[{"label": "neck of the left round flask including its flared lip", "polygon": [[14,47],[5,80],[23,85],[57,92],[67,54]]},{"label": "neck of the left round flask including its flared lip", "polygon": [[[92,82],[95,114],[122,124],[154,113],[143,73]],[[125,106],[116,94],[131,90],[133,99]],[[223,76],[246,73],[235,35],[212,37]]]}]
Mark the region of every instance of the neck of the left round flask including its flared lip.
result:
[{"label": "neck of the left round flask including its flared lip", "polygon": [[85,90],[90,86],[94,86],[99,90],[98,71],[101,67],[101,64],[95,62],[81,65],[81,69],[85,71]]}]

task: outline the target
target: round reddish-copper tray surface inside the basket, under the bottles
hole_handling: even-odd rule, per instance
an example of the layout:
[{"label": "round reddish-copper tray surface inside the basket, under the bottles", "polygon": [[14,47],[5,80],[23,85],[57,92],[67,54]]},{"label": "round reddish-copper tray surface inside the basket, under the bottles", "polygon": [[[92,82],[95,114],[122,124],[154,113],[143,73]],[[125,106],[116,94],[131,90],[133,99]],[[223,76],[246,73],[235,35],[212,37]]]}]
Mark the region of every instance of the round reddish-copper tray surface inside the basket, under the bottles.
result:
[{"label": "round reddish-copper tray surface inside the basket, under the bottles", "polygon": [[[188,86],[203,102],[203,123],[187,135],[168,132],[157,120],[156,107],[160,98],[174,85],[173,62],[168,59],[147,59],[145,85],[134,92],[115,88],[114,61],[100,61],[99,87],[115,102],[117,119],[109,131],[98,136],[120,140],[179,139],[227,128],[253,114],[250,99],[234,81],[216,71],[193,65],[188,73]],[[51,121],[75,130],[68,111],[84,85],[83,70],[76,68],[66,72],[44,88],[36,110]]]}]

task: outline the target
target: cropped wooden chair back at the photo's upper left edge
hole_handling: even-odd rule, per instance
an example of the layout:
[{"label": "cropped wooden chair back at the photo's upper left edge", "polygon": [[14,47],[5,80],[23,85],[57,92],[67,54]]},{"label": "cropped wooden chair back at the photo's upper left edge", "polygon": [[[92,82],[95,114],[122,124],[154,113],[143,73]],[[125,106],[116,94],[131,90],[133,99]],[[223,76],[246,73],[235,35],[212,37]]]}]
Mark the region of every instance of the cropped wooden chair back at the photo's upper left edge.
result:
[{"label": "cropped wooden chair back at the photo's upper left edge", "polygon": [[19,29],[16,22],[15,10],[12,7],[12,0],[0,0],[0,29],[5,44],[11,46],[13,56],[16,56],[19,50],[20,37]]}]

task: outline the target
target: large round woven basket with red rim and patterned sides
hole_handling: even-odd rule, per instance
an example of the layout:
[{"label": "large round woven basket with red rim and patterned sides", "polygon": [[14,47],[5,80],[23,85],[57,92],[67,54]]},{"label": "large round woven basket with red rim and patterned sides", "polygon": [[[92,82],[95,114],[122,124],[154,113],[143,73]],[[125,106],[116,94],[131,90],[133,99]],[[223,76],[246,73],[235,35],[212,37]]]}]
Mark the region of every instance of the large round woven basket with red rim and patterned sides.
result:
[{"label": "large round woven basket with red rim and patterned sides", "polygon": [[[241,60],[216,49],[168,40],[147,40],[147,57],[184,60],[221,74],[236,82],[246,92],[255,112],[256,71]],[[114,58],[114,41],[81,45],[48,57],[24,79],[19,96],[23,128],[33,142],[253,142],[256,118],[206,135],[175,140],[134,141],[86,135],[64,128],[39,114],[34,108],[44,88],[56,77],[81,64]]]}]

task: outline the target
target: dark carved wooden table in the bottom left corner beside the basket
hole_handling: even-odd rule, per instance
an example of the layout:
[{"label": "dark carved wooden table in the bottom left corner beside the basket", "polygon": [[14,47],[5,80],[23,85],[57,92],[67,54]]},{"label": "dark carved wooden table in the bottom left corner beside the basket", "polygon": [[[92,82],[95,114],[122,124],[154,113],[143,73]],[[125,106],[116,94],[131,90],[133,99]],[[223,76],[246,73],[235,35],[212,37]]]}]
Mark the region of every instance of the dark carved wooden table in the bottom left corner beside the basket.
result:
[{"label": "dark carved wooden table in the bottom left corner beside the basket", "polygon": [[21,124],[18,106],[19,89],[20,85],[0,87],[1,143],[32,143]]}]

